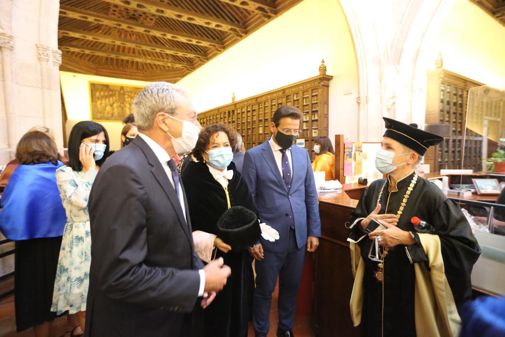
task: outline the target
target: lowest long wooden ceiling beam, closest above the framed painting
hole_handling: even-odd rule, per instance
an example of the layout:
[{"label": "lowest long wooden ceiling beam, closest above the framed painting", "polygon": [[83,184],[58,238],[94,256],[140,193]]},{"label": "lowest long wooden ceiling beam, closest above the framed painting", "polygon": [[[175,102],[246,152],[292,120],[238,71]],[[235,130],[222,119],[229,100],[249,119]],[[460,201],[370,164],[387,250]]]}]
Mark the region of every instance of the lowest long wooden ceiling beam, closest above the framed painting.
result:
[{"label": "lowest long wooden ceiling beam, closest above the framed painting", "polygon": [[108,58],[128,60],[128,61],[134,61],[134,62],[139,62],[139,63],[158,64],[158,65],[166,66],[166,67],[174,67],[174,68],[189,69],[189,70],[193,69],[193,66],[190,64],[187,64],[187,63],[157,59],[157,58],[153,58],[153,57],[149,57],[149,56],[123,54],[123,53],[117,53],[117,52],[112,52],[112,51],[104,51],[101,49],[96,49],[96,48],[91,48],[91,47],[82,47],[79,45],[72,45],[72,44],[59,44],[58,47],[60,50],[67,51],[67,52],[104,56],[104,57],[108,57]]}]

